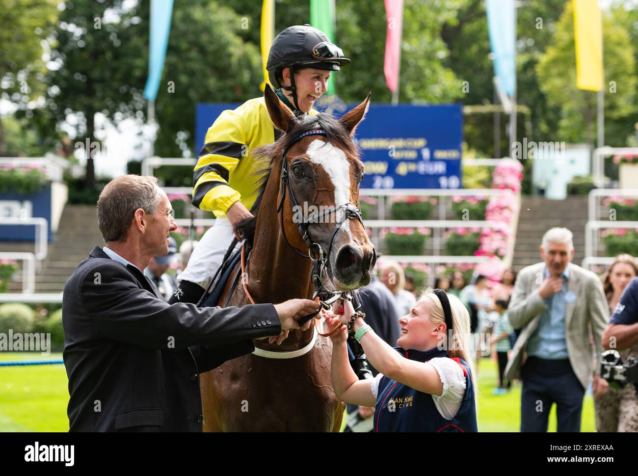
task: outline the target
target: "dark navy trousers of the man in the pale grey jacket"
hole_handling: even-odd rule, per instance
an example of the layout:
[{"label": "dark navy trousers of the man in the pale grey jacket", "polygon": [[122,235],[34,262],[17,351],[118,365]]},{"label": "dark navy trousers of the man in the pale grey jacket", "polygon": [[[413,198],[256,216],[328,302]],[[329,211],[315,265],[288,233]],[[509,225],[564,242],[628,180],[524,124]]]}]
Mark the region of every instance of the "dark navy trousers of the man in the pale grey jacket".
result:
[{"label": "dark navy trousers of the man in the pale grey jacket", "polygon": [[545,432],[549,410],[556,403],[557,431],[581,431],[585,389],[569,359],[529,357],[521,369],[521,432]]}]

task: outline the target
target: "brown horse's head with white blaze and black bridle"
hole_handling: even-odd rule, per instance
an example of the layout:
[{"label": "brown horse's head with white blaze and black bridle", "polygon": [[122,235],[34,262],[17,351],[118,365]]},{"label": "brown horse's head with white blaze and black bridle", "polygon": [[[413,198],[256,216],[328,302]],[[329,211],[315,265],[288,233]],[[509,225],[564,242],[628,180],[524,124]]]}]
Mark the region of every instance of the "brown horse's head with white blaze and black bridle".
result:
[{"label": "brown horse's head with white blaze and black bridle", "polygon": [[323,253],[332,291],[367,285],[376,253],[359,211],[359,185],[364,167],[352,137],[366,115],[370,94],[339,121],[329,114],[296,117],[266,87],[271,121],[283,131],[271,149],[271,170],[281,170],[280,226],[292,248]]}]

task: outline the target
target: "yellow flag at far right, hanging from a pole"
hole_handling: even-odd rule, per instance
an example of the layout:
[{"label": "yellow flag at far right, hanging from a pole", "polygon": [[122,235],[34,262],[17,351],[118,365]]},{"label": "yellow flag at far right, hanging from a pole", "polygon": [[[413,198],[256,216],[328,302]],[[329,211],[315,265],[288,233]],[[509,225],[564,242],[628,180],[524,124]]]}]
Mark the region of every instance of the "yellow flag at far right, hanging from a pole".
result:
[{"label": "yellow flag at far right, hanging from a pole", "polygon": [[576,43],[576,86],[600,91],[603,84],[602,17],[598,0],[572,0]]}]

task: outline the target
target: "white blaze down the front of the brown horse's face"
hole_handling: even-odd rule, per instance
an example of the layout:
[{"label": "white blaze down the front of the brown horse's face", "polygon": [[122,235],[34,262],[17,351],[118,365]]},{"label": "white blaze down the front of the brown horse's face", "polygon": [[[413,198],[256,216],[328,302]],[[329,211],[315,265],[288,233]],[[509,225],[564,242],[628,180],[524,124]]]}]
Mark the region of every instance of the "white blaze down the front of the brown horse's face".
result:
[{"label": "white blaze down the front of the brown horse's face", "polygon": [[[345,152],[328,142],[315,139],[310,143],[306,154],[312,163],[321,165],[330,177],[334,186],[334,204],[339,206],[350,203],[350,162],[348,162]],[[343,209],[339,210],[335,214],[336,220],[339,221],[344,213]],[[346,220],[341,228],[352,241],[350,220]]]}]

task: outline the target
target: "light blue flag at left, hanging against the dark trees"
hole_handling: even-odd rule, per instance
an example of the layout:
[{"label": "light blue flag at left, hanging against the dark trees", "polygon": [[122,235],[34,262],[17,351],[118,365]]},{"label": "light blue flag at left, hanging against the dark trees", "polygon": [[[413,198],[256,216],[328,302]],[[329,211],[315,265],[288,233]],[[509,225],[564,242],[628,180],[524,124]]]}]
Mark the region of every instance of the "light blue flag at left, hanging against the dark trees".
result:
[{"label": "light blue flag at left, hanging against the dark trees", "polygon": [[144,87],[144,97],[154,101],[158,95],[161,71],[170,33],[170,19],[173,14],[173,0],[151,0],[151,47],[149,52],[149,78]]}]

